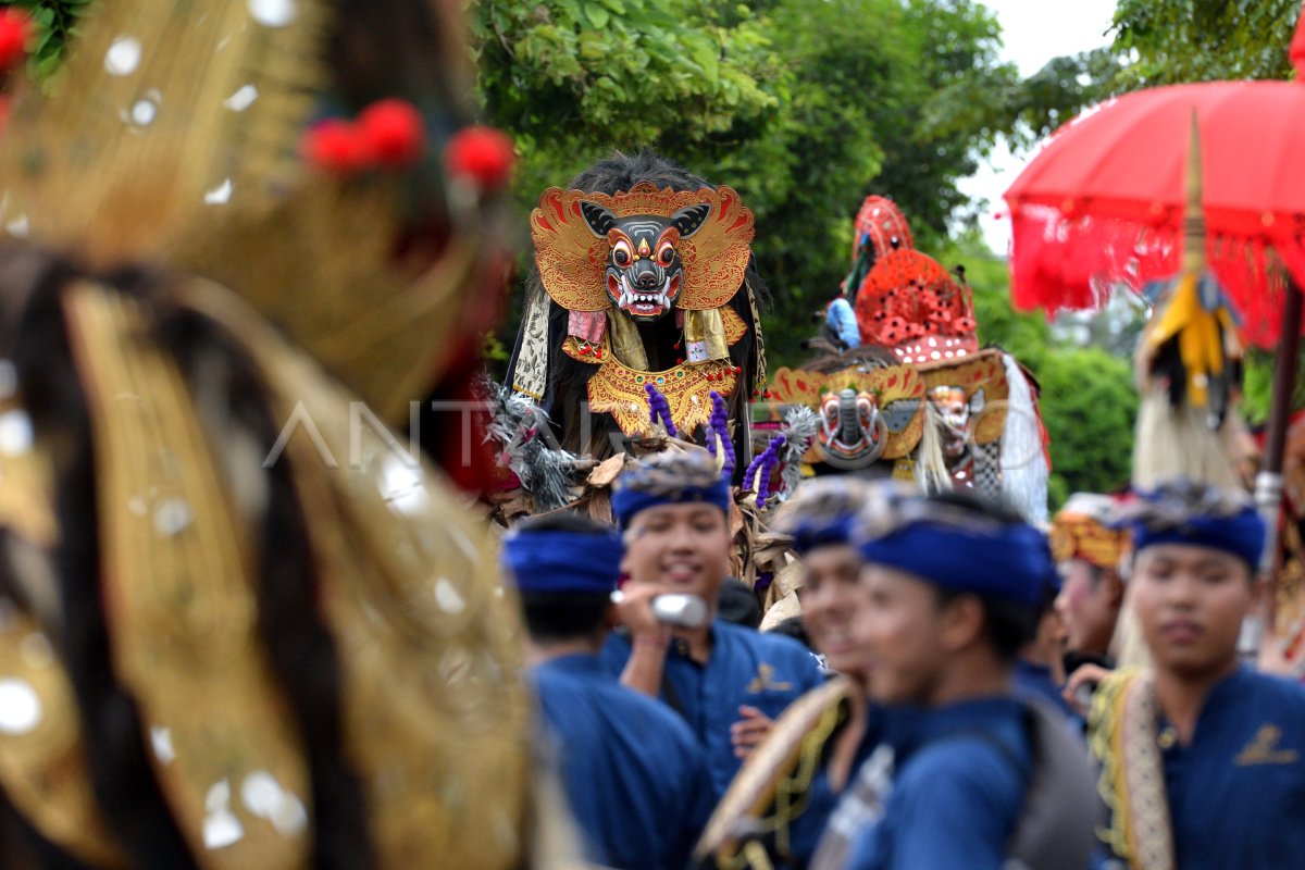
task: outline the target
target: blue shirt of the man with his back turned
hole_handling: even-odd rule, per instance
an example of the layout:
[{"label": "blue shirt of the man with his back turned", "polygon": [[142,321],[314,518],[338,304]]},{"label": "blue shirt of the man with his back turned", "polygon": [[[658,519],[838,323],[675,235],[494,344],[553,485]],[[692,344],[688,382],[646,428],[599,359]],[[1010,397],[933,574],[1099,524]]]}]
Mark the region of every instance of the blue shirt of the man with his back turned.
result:
[{"label": "blue shirt of the man with his back turned", "polygon": [[684,867],[715,802],[685,724],[598,656],[553,659],[532,678],[585,857],[620,870]]}]

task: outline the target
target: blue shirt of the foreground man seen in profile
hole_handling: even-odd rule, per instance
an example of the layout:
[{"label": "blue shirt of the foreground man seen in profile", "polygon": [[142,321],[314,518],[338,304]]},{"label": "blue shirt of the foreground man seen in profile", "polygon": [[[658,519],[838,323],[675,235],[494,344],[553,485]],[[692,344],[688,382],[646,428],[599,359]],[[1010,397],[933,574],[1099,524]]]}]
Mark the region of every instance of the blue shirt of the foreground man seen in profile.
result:
[{"label": "blue shirt of the foreground man seen in profile", "polygon": [[1024,721],[1015,698],[925,712],[893,741],[883,815],[852,841],[848,870],[1000,870],[1032,771]]}]

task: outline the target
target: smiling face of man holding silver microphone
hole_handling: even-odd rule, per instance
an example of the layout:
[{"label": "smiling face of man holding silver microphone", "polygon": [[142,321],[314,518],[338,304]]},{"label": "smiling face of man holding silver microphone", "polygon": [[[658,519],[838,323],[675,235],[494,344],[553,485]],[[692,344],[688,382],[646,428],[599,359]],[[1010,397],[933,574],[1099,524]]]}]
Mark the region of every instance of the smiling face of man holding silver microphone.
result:
[{"label": "smiling face of man holding silver microphone", "polygon": [[658,505],[630,520],[622,567],[633,583],[656,583],[714,603],[729,573],[731,545],[719,507]]}]

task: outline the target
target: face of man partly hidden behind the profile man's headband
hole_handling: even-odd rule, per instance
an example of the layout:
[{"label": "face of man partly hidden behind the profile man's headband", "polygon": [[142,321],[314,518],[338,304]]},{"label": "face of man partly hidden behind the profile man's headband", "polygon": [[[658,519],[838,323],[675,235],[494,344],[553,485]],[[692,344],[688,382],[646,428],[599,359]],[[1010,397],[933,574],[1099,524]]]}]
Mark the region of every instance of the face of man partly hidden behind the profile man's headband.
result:
[{"label": "face of man partly hidden behind the profile man's headband", "polygon": [[861,557],[850,544],[817,547],[803,557],[806,569],[797,597],[812,646],[829,667],[864,680],[869,660]]}]

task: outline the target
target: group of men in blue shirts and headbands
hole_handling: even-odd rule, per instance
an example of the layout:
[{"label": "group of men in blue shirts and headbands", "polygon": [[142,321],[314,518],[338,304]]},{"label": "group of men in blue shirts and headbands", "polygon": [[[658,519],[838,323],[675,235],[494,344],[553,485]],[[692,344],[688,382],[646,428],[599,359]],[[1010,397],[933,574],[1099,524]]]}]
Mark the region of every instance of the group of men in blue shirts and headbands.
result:
[{"label": "group of men in blue shirts and headbands", "polygon": [[[560,514],[505,541],[591,863],[1305,860],[1305,689],[1237,653],[1265,539],[1242,496],[1075,497],[1049,545],[964,493],[808,481],[779,526],[810,648],[715,616],[729,509],[710,462],[662,454],[617,480],[617,531]],[[668,625],[664,595],[715,618]],[[1116,659],[1130,633],[1142,667]]]}]

